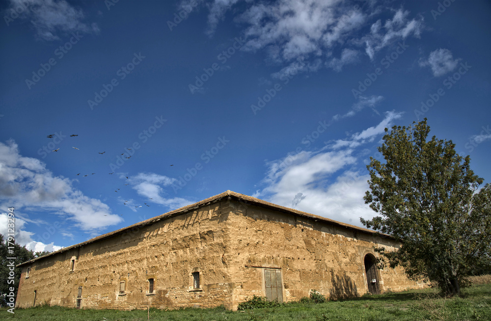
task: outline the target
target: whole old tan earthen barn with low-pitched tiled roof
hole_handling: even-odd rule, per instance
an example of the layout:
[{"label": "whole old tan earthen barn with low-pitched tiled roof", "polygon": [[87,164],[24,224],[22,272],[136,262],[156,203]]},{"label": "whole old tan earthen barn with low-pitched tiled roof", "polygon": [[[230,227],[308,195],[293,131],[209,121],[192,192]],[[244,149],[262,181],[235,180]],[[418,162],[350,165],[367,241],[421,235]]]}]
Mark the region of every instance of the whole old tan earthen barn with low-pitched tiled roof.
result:
[{"label": "whole old tan earthen barn with low-pitched tiled roof", "polygon": [[17,307],[237,305],[422,287],[376,267],[389,236],[226,191],[22,263]]}]

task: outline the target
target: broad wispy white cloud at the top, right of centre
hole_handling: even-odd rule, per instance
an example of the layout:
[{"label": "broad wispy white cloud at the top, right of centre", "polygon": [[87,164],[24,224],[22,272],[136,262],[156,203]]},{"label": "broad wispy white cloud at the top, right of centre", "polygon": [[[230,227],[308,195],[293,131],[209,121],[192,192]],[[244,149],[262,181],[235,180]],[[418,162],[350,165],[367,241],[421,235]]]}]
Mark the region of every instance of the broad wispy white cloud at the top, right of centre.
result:
[{"label": "broad wispy white cloud at the top, right of centre", "polygon": [[[322,66],[339,72],[359,61],[361,51],[373,60],[383,48],[409,36],[419,37],[423,29],[422,17],[411,19],[409,11],[376,6],[374,2],[355,6],[342,0],[208,0],[203,6],[209,9],[209,35],[227,11],[242,12],[235,17],[236,23],[245,26],[246,42],[241,50],[264,50],[268,61],[282,65],[273,78],[286,75],[288,70],[315,72]],[[383,24],[381,20],[374,22],[386,11],[393,12],[391,19]],[[339,48],[339,58],[330,57],[335,48]],[[300,67],[298,61],[304,65]]]}]

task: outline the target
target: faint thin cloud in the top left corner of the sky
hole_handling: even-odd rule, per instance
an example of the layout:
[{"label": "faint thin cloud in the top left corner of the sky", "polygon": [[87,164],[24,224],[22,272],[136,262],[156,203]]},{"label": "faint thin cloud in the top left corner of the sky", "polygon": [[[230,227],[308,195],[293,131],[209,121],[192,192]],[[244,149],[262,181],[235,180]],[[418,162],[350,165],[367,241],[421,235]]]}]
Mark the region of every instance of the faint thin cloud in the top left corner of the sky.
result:
[{"label": "faint thin cloud in the top left corner of the sky", "polygon": [[87,24],[82,9],[72,6],[65,0],[10,0],[12,9],[24,8],[21,19],[27,19],[36,29],[37,36],[44,40],[58,40],[58,32],[97,33],[96,23]]}]

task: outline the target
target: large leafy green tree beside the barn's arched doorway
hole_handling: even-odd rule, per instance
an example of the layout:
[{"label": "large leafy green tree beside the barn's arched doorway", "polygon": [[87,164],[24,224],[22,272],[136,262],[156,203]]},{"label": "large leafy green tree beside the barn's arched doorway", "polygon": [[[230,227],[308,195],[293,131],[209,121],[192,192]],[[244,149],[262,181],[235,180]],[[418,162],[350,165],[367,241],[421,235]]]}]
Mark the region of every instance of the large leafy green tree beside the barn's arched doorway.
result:
[{"label": "large leafy green tree beside the barn's arched doorway", "polygon": [[[446,295],[460,294],[476,267],[490,267],[491,185],[470,169],[451,140],[427,140],[427,120],[385,129],[378,147],[385,163],[370,158],[365,204],[380,214],[361,218],[368,228],[402,241],[378,249],[390,267],[430,281]],[[382,265],[385,260],[382,260]]]}]

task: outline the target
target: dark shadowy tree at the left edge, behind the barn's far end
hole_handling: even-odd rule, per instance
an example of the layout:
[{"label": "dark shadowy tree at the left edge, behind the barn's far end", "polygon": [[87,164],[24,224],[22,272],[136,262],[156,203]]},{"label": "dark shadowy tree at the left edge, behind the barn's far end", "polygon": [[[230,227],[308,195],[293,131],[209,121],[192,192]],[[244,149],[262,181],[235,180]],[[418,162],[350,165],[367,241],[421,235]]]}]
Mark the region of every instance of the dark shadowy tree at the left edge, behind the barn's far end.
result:
[{"label": "dark shadowy tree at the left edge, behind the barn's far end", "polygon": [[13,254],[9,254],[8,252],[8,244],[3,239],[3,235],[0,234],[0,300],[2,301],[2,306],[5,305],[4,300],[6,299],[6,295],[10,293],[10,287],[14,287],[15,297],[17,297],[17,289],[19,288],[19,280],[21,279],[21,271],[20,267],[15,267],[13,284],[10,284],[9,281],[9,273],[10,269],[7,266],[11,261],[7,260],[7,257],[16,257],[17,259],[14,262],[14,265],[19,265],[23,262],[34,259],[34,253],[31,250],[28,250],[26,246],[20,246],[19,244],[14,245]]}]

